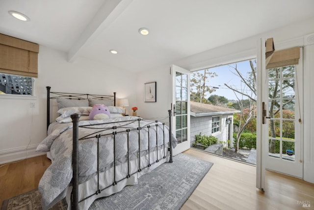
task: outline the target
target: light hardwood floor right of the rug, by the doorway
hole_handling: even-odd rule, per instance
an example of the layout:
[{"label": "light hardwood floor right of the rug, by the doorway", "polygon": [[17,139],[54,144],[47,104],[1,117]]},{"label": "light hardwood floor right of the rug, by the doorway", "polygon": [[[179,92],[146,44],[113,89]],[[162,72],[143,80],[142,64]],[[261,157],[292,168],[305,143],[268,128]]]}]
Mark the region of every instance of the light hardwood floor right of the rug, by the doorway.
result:
[{"label": "light hardwood floor right of the rug, by the doorway", "polygon": [[[183,153],[213,163],[182,210],[314,209],[314,184],[266,171],[265,192],[256,188],[256,167],[189,149]],[[302,201],[310,205],[302,207]]]}]

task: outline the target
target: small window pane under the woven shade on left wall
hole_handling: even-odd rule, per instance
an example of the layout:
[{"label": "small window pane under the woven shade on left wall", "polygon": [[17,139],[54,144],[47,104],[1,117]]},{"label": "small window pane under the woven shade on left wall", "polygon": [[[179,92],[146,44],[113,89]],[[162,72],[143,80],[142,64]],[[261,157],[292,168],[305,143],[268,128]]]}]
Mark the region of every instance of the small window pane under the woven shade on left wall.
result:
[{"label": "small window pane under the woven shade on left wall", "polygon": [[0,94],[33,95],[34,78],[0,73]]}]

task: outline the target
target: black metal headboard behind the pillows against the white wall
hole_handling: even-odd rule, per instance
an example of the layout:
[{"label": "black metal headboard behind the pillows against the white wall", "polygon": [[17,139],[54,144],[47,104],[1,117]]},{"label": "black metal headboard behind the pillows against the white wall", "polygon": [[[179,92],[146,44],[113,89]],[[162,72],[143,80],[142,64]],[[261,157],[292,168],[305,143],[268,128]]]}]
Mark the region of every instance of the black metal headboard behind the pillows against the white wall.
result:
[{"label": "black metal headboard behind the pillows against the white wall", "polygon": [[88,93],[69,93],[69,92],[51,92],[51,87],[47,86],[47,130],[50,125],[50,100],[57,99],[58,97],[80,100],[80,99],[108,99],[113,100],[113,106],[116,106],[116,92],[113,95],[98,95],[98,94],[88,94]]}]

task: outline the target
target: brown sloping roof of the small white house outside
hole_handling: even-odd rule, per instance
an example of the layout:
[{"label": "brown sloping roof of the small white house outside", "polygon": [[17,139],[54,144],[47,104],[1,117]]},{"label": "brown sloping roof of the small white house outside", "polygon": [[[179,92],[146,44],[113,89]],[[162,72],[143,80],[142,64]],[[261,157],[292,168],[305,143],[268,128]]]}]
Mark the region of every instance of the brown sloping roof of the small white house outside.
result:
[{"label": "brown sloping roof of the small white house outside", "polygon": [[191,101],[190,105],[191,115],[194,117],[240,113],[239,110],[229,107],[214,106],[211,104],[198,103],[195,101]]}]

